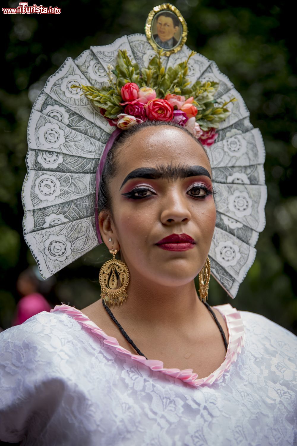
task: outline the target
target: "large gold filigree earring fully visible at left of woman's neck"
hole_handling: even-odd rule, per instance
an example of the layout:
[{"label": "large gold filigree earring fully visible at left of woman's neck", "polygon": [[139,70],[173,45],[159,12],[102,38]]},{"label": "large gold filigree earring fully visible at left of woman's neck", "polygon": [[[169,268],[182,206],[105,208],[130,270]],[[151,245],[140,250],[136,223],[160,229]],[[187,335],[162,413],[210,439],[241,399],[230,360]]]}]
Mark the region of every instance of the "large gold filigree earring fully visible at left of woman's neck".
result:
[{"label": "large gold filigree earring fully visible at left of woman's neck", "polygon": [[110,249],[109,252],[112,254],[112,259],[107,260],[102,265],[99,272],[99,283],[104,303],[109,306],[112,305],[114,308],[115,304],[120,306],[123,301],[126,301],[126,289],[130,280],[130,273],[127,265],[115,258],[118,251]]}]

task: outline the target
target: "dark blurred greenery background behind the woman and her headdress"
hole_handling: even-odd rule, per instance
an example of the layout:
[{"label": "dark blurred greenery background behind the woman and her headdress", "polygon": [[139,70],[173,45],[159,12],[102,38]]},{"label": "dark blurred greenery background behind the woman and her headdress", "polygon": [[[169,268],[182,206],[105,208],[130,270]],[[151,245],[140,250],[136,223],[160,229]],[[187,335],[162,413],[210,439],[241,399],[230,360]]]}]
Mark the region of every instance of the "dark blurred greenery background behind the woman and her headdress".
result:
[{"label": "dark blurred greenery background behind the woman and her headdress", "polygon": [[[60,7],[61,14],[1,17],[0,327],[4,329],[12,325],[20,299],[17,279],[35,264],[22,235],[20,198],[33,102],[68,56],[76,58],[90,45],[109,44],[124,34],[144,33],[146,17],[157,4],[139,0],[41,3]],[[238,310],[263,314],[297,333],[296,18],[289,2],[249,0],[239,6],[237,0],[176,0],[173,4],[187,21],[187,45],[215,60],[228,75],[266,147],[267,224],[256,245],[255,263],[235,301],[212,278],[208,302],[230,302]],[[5,0],[2,4],[16,5]],[[57,273],[47,297],[51,306],[63,301],[81,309],[97,300],[98,273],[107,258],[106,248],[98,247]]]}]

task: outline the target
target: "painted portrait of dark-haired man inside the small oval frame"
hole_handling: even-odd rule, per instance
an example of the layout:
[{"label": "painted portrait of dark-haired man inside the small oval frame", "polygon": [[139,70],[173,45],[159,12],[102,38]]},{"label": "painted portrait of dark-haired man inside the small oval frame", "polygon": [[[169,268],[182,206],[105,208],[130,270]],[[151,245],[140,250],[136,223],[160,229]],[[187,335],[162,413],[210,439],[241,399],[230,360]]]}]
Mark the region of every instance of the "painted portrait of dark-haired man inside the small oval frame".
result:
[{"label": "painted portrait of dark-haired man inside the small oval frame", "polygon": [[182,26],[173,12],[164,11],[154,18],[152,31],[157,45],[166,50],[172,50],[179,43]]}]

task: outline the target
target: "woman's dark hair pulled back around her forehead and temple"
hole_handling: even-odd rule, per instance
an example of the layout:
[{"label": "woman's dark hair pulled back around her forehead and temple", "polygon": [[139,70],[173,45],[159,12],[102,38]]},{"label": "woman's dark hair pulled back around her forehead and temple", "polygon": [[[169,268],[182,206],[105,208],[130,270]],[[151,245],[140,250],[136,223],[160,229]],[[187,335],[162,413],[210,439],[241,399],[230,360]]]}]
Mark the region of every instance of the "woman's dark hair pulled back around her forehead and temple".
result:
[{"label": "woman's dark hair pulled back around her forehead and temple", "polygon": [[[142,124],[136,124],[133,127],[130,127],[128,130],[124,130],[119,136],[118,139],[115,140],[114,145],[110,149],[110,151],[107,154],[106,161],[104,163],[100,183],[99,183],[99,191],[98,191],[98,211],[106,210],[110,212],[110,216],[112,217],[112,205],[111,205],[111,196],[110,196],[110,180],[117,174],[118,169],[118,163],[117,163],[117,151],[122,144],[128,140],[131,136],[135,135],[135,133],[139,132],[143,128],[148,127],[156,127],[156,126],[171,126],[176,127],[182,130],[183,132],[186,132],[187,135],[190,135],[198,144],[199,141],[196,139],[196,137],[188,132],[188,130],[179,124],[176,124],[172,121],[151,121],[146,120]],[[206,150],[201,145],[204,152],[207,155]],[[208,158],[208,155],[207,155]]]}]

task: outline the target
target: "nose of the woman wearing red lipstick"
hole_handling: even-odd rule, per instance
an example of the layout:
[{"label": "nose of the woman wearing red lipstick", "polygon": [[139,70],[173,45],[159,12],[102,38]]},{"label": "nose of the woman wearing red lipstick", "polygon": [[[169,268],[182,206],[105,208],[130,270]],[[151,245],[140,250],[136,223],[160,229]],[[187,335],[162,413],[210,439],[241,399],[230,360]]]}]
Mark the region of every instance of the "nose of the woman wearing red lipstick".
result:
[{"label": "nose of the woman wearing red lipstick", "polygon": [[187,223],[191,220],[187,198],[178,193],[172,193],[164,198],[161,222],[163,224]]}]

